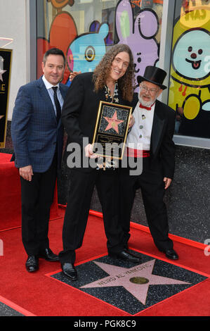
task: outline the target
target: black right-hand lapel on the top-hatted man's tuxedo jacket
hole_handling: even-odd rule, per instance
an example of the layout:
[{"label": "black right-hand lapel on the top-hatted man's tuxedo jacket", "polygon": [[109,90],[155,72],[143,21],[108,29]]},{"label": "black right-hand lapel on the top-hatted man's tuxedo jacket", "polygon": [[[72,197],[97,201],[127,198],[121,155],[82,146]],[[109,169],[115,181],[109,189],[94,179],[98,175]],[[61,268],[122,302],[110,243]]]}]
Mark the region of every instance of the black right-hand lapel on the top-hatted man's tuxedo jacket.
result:
[{"label": "black right-hand lapel on the top-hatted man's tuxedo jacket", "polygon": [[155,157],[158,151],[159,144],[161,143],[162,132],[164,128],[165,118],[162,112],[161,104],[157,100],[155,103],[155,112],[152,124],[151,146],[152,156]]}]

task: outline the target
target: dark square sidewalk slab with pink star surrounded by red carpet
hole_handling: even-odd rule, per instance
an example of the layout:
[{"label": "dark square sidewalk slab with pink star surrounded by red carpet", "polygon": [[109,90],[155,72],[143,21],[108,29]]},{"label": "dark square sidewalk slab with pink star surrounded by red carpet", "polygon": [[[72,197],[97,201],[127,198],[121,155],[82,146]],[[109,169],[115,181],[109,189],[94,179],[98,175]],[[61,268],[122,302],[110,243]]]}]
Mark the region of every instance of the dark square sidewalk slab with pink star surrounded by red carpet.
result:
[{"label": "dark square sidewalk slab with pink star surrounded by red carpet", "polygon": [[51,274],[64,285],[135,315],[146,308],[193,287],[207,279],[192,270],[140,254],[140,263],[102,256],[76,266],[78,280],[62,272]]}]

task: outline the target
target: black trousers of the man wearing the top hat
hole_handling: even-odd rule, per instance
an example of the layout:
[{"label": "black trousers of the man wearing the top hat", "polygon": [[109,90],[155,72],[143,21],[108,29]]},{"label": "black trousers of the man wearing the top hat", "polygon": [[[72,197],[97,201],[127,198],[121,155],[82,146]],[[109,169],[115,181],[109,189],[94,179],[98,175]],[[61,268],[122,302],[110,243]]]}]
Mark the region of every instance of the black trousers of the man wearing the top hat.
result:
[{"label": "black trousers of the man wearing the top hat", "polygon": [[143,204],[150,233],[159,250],[173,248],[169,239],[169,225],[164,204],[164,175],[159,160],[150,162],[150,158],[143,158],[143,172],[140,175],[129,175],[129,169],[122,169],[120,173],[120,213],[124,230],[124,245],[129,241],[131,210],[136,190],[141,189]]}]

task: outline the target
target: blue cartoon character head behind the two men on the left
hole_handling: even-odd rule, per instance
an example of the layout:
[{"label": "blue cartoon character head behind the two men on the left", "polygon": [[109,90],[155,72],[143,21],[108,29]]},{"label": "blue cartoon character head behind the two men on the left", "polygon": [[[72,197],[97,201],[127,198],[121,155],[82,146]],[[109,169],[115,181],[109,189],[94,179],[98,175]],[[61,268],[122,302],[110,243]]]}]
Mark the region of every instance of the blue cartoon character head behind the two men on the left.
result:
[{"label": "blue cartoon character head behind the two men on the left", "polygon": [[104,39],[108,32],[109,26],[104,23],[100,25],[98,32],[85,33],[74,39],[67,51],[67,65],[70,71],[86,73],[96,68],[106,52]]}]

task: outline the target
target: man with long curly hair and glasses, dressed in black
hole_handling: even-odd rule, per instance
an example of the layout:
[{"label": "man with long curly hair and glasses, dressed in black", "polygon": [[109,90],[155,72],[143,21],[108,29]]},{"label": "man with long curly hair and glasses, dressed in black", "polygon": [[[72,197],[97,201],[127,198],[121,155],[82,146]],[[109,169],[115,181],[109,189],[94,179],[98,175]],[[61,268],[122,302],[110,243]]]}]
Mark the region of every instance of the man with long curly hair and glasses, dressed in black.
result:
[{"label": "man with long curly hair and glasses, dressed in black", "polygon": [[[81,162],[85,158],[95,157],[91,143],[100,101],[130,106],[133,81],[133,55],[129,46],[124,44],[117,44],[107,51],[93,73],[82,73],[74,78],[63,106],[62,120],[69,142],[81,146],[81,154],[76,156]],[[70,185],[63,225],[63,251],[59,254],[63,273],[71,280],[77,280],[75,250],[81,246],[84,238],[95,185],[103,209],[108,254],[126,261],[140,262],[122,244],[118,169],[113,165],[104,171],[100,167],[86,168],[81,163],[72,168]]]}]

